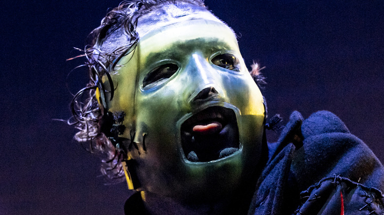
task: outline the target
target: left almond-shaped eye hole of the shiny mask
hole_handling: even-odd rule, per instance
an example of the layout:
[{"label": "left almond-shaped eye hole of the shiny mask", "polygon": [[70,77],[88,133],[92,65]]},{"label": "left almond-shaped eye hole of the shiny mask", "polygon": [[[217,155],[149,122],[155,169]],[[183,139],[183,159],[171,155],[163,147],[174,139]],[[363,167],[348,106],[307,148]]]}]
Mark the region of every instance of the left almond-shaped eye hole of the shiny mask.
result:
[{"label": "left almond-shaped eye hole of the shiny mask", "polygon": [[179,67],[174,63],[160,65],[149,72],[143,80],[143,89],[147,90],[157,86],[177,72]]}]

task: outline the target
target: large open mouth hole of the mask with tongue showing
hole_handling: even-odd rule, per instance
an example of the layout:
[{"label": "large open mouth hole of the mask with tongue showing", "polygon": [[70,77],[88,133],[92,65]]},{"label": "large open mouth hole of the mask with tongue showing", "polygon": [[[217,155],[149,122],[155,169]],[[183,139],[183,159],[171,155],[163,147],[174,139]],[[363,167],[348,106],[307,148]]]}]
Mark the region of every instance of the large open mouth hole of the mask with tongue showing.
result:
[{"label": "large open mouth hole of the mask with tongue showing", "polygon": [[180,132],[184,155],[191,162],[216,161],[239,151],[236,114],[230,108],[203,109],[188,118]]}]

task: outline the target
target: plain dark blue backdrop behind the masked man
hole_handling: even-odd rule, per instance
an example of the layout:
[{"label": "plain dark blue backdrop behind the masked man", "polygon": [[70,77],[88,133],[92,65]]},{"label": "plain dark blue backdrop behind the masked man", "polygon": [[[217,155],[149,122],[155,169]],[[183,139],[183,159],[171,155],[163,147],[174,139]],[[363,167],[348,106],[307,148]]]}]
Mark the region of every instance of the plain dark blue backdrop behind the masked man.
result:
[{"label": "plain dark blue backdrop behind the masked man", "polygon": [[[126,184],[105,186],[99,159],[72,140],[65,78],[108,1],[0,1],[0,215],[123,214]],[[383,0],[206,0],[266,68],[270,115],[326,109],[384,161]],[[69,75],[70,90],[86,71]],[[272,135],[272,138],[276,138]]]}]

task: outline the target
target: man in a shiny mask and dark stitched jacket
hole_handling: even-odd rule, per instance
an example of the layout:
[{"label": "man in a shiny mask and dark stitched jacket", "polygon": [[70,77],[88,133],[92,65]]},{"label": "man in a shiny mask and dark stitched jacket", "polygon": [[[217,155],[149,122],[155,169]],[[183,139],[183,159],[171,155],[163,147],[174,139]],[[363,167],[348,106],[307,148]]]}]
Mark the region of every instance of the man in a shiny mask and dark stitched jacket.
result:
[{"label": "man in a shiny mask and dark stitched jacket", "polygon": [[136,190],[126,214],[383,213],[382,164],[332,113],[267,144],[262,78],[201,0],[123,2],[91,36],[76,139]]}]

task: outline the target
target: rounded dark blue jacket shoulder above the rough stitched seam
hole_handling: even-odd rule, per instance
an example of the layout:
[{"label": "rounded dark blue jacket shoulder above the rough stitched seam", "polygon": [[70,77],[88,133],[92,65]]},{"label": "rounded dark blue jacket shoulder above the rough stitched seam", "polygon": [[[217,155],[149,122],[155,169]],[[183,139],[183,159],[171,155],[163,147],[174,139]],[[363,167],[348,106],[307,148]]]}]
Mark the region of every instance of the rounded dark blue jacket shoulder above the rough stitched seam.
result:
[{"label": "rounded dark blue jacket shoulder above the rough stitched seam", "polygon": [[369,147],[329,111],[319,111],[301,125],[302,146],[291,171],[302,185],[339,175],[368,187],[384,189],[384,168]]}]

